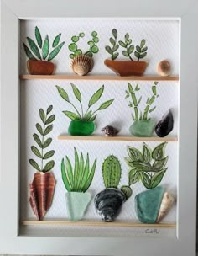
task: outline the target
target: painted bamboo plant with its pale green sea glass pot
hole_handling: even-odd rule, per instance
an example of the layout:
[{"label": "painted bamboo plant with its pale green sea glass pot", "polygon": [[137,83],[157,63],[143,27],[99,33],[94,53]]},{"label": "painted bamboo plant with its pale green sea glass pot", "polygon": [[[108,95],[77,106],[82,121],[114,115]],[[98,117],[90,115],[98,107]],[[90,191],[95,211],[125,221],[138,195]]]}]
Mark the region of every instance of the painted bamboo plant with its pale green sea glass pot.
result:
[{"label": "painted bamboo plant with its pale green sea glass pot", "polygon": [[138,109],[138,104],[140,104],[142,96],[139,99],[137,99],[136,96],[136,93],[140,90],[138,83],[135,88],[133,88],[131,83],[128,83],[128,90],[126,90],[127,95],[125,99],[128,99],[129,97],[131,97],[132,99],[132,101],[129,101],[128,104],[130,108],[134,109],[134,115],[132,114],[133,125],[130,126],[129,131],[134,136],[148,137],[152,136],[154,133],[155,121],[154,119],[148,118],[148,114],[156,109],[156,106],[152,107],[152,105],[154,104],[154,100],[159,97],[156,89],[157,84],[158,82],[154,82],[152,86],[153,95],[151,97],[148,97],[146,107],[144,108],[142,113]]}]

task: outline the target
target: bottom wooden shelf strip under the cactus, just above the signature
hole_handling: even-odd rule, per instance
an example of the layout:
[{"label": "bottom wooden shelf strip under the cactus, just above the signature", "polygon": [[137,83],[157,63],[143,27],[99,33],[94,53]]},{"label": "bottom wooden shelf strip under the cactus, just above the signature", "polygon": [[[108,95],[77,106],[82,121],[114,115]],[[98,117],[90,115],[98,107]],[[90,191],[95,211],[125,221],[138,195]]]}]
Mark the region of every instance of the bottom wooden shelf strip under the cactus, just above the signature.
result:
[{"label": "bottom wooden shelf strip under the cactus, just above the signature", "polygon": [[78,227],[143,227],[143,228],[176,228],[176,224],[159,223],[159,224],[144,224],[138,222],[103,222],[103,221],[21,221],[24,226],[45,226],[45,225],[60,225],[60,226],[78,226]]}]

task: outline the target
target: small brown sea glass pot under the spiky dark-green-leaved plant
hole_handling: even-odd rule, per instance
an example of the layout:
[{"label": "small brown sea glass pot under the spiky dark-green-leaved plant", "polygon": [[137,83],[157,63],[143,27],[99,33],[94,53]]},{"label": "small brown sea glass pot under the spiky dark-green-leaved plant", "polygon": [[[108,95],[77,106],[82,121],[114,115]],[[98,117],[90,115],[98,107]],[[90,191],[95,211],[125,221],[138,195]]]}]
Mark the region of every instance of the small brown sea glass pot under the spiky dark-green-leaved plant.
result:
[{"label": "small brown sea glass pot under the spiky dark-green-leaved plant", "polygon": [[51,75],[55,70],[55,64],[50,61],[27,61],[27,68],[31,75]]}]

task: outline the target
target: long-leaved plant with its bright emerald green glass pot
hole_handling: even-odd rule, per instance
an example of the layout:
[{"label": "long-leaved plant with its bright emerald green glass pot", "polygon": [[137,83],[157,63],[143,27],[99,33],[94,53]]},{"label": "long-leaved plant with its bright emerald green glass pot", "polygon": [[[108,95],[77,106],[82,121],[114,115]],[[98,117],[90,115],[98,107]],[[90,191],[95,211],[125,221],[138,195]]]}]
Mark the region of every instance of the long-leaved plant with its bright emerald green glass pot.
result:
[{"label": "long-leaved plant with its bright emerald green glass pot", "polygon": [[77,101],[81,105],[81,110],[78,110],[73,104],[68,94],[66,93],[64,88],[61,88],[60,86],[56,85],[56,88],[58,89],[58,92],[60,93],[60,96],[65,99],[65,101],[70,104],[70,106],[75,109],[75,112],[71,112],[68,110],[63,111],[63,113],[70,118],[70,126],[68,129],[68,132],[72,136],[88,136],[91,135],[91,133],[95,130],[94,120],[96,120],[97,112],[101,111],[103,109],[107,109],[113,102],[114,99],[109,99],[102,103],[95,111],[91,109],[93,104],[96,104],[96,102],[101,99],[102,93],[104,91],[104,85],[102,85],[101,88],[99,88],[96,93],[94,93],[91,96],[91,99],[89,100],[88,107],[86,111],[84,111],[82,107],[82,99],[81,99],[81,92],[76,87],[75,84],[70,83],[71,88],[73,90],[73,93],[77,99]]}]

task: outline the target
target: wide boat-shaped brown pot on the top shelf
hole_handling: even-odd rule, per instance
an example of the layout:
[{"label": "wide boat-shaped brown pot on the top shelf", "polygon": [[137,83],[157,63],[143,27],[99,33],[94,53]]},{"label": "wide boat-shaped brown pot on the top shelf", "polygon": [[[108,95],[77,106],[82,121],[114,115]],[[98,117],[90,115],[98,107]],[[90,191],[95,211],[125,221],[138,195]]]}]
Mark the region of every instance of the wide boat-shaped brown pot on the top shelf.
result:
[{"label": "wide boat-shaped brown pot on the top shelf", "polygon": [[142,76],[147,67],[146,61],[111,61],[105,60],[104,64],[112,69],[117,75],[124,76]]}]

